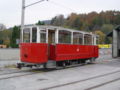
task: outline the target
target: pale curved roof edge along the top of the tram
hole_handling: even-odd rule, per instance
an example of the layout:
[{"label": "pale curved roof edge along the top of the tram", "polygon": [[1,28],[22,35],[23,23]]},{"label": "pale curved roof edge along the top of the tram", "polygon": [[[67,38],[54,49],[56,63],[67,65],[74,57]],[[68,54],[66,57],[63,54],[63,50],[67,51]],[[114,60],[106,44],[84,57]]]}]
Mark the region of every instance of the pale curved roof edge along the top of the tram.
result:
[{"label": "pale curved roof edge along the top of the tram", "polygon": [[93,33],[75,30],[75,29],[63,28],[63,27],[59,27],[59,26],[51,26],[51,25],[25,25],[24,26],[24,28],[31,28],[31,27],[39,27],[41,29],[66,30],[66,31],[70,31],[70,32],[78,32],[78,33],[82,33],[82,34],[90,34],[90,35],[98,36],[98,35],[93,34]]}]

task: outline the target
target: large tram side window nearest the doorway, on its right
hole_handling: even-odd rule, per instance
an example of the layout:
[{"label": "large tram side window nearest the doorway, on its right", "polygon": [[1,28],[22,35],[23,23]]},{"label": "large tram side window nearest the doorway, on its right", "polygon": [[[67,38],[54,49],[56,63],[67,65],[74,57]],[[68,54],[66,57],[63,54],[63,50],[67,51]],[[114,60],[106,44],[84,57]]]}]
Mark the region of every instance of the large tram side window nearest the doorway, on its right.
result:
[{"label": "large tram side window nearest the doorway, on its right", "polygon": [[59,31],[59,43],[71,43],[71,32],[60,30]]}]

